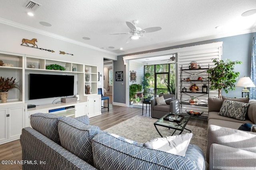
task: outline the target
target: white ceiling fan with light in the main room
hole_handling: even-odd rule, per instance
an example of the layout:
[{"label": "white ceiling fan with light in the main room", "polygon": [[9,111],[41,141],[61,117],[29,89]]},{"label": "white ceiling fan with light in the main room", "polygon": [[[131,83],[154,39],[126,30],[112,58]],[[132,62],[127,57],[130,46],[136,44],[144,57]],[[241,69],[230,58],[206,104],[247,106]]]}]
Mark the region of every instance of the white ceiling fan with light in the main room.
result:
[{"label": "white ceiling fan with light in the main room", "polygon": [[151,33],[155,31],[159,31],[162,28],[161,27],[149,27],[145,29],[141,29],[140,27],[137,27],[138,20],[134,20],[131,22],[126,21],[126,25],[131,29],[127,33],[112,33],[110,35],[119,35],[119,34],[131,34],[131,36],[127,39],[126,43],[130,43],[131,40],[140,39],[140,37],[144,36],[144,33]]}]

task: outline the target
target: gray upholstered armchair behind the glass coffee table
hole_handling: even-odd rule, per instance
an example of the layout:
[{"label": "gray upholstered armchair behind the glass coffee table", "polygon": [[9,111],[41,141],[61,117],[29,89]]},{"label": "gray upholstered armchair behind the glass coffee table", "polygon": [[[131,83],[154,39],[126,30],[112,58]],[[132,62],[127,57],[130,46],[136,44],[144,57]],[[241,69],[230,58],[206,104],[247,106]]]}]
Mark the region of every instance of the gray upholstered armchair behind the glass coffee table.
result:
[{"label": "gray upholstered armchair behind the glass coffee table", "polygon": [[179,113],[179,102],[174,94],[159,94],[159,97],[164,96],[166,105],[156,105],[156,100],[151,100],[151,117],[160,119],[166,113]]}]

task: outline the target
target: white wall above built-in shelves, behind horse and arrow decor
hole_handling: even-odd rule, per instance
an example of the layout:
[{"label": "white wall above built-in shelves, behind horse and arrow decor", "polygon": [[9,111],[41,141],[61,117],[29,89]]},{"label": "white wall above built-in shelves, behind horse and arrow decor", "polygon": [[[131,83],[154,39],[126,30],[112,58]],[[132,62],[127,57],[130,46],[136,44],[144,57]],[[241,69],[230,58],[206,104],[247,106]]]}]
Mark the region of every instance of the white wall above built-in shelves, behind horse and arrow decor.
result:
[{"label": "white wall above built-in shelves, behind horse and arrow decor", "polygon": [[[0,30],[0,51],[92,64],[98,66],[98,72],[100,72],[100,74],[103,74],[103,58],[117,60],[117,56],[114,55],[114,53],[103,51],[95,47],[90,48],[88,45],[78,43],[77,41],[72,41],[70,39],[42,32],[36,29],[27,31],[25,29],[18,28],[18,25],[14,27],[0,23]],[[38,42],[36,42],[36,45],[38,45],[38,48],[50,49],[55,52],[52,53],[21,45],[22,39],[33,38],[37,39]],[[68,54],[60,54],[60,51],[73,54],[73,56]],[[25,82],[25,86],[28,86],[28,82]],[[100,77],[98,88],[103,88],[103,76]],[[25,92],[25,96],[27,95],[28,92]]]}]

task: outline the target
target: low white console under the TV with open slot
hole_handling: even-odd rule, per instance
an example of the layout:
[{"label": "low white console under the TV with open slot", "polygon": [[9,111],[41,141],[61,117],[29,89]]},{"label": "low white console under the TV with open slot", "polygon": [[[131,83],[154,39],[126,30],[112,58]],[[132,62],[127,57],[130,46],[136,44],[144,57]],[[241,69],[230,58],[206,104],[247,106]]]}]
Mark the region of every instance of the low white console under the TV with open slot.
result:
[{"label": "low white console under the TV with open slot", "polygon": [[87,102],[80,100],[73,103],[46,104],[27,109],[26,117],[29,117],[29,119],[25,120],[25,127],[31,127],[30,115],[34,113],[51,113],[54,115],[62,115],[67,117],[79,117],[86,115]]}]

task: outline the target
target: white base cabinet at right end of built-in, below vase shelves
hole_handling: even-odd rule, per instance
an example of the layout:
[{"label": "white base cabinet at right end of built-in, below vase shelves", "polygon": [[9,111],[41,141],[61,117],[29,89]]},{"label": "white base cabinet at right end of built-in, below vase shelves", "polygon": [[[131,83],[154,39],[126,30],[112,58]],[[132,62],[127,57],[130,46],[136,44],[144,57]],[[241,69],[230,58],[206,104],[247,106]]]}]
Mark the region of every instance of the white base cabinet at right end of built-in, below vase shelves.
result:
[{"label": "white base cabinet at right end of built-in, below vase shelves", "polygon": [[87,97],[88,117],[101,115],[101,96],[93,95]]}]

